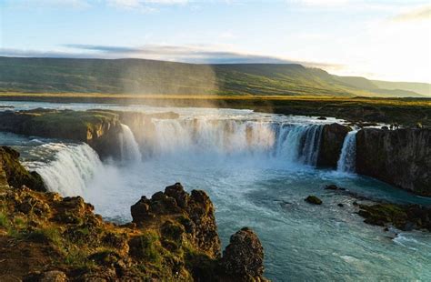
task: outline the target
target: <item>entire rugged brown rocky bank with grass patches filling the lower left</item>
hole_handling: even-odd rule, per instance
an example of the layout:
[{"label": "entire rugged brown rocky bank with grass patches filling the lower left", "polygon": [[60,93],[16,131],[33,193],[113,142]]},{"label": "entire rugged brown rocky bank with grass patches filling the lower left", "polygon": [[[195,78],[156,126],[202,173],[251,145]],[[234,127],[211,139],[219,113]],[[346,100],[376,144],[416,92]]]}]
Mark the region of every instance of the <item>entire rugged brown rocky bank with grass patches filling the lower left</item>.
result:
[{"label": "entire rugged brown rocky bank with grass patches filling the lower left", "polygon": [[143,196],[131,208],[133,222],[117,226],[80,196],[35,191],[16,155],[0,150],[0,160],[12,160],[0,163],[0,280],[265,280],[263,248],[251,229],[233,235],[221,256],[204,191],[175,184]]}]

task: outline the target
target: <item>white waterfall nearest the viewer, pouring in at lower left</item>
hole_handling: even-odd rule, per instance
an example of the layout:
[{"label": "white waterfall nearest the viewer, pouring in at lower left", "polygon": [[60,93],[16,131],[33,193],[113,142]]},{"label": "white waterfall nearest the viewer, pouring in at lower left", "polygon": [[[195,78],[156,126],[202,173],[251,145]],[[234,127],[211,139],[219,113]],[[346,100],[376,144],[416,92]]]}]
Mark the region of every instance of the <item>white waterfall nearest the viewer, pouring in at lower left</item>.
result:
[{"label": "white waterfall nearest the viewer, pouring in at lower left", "polygon": [[47,189],[62,196],[83,196],[86,184],[103,166],[97,153],[86,144],[50,143],[44,146],[45,149],[56,152],[52,161],[39,163],[38,167],[35,167],[35,171],[44,179]]}]

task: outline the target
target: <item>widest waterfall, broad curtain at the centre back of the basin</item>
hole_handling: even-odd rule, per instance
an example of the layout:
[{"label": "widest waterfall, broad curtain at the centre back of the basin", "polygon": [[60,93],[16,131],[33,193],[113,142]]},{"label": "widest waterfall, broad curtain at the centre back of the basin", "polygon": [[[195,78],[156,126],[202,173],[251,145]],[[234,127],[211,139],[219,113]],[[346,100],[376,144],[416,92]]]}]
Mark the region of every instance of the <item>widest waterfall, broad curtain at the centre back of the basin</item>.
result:
[{"label": "widest waterfall, broad curtain at the centre back of the basin", "polygon": [[316,166],[323,126],[236,119],[153,119],[151,156],[266,156]]}]

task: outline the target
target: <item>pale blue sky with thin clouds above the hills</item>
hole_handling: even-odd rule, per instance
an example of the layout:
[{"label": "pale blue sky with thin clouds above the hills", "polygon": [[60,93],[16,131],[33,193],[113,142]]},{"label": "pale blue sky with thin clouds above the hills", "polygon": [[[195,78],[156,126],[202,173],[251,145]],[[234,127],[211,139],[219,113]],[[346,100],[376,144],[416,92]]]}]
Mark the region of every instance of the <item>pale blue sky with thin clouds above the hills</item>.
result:
[{"label": "pale blue sky with thin clouds above the hills", "polygon": [[431,83],[431,1],[0,0],[0,55],[299,63]]}]

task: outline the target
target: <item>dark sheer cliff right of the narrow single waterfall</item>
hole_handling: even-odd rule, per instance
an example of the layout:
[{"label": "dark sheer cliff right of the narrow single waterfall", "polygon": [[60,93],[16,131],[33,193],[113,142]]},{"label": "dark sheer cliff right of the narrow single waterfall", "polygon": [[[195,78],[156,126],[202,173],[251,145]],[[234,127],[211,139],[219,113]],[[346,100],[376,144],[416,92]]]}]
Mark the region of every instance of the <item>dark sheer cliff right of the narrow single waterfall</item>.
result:
[{"label": "dark sheer cliff right of the narrow single waterfall", "polygon": [[359,130],[356,172],[431,196],[431,130]]}]

